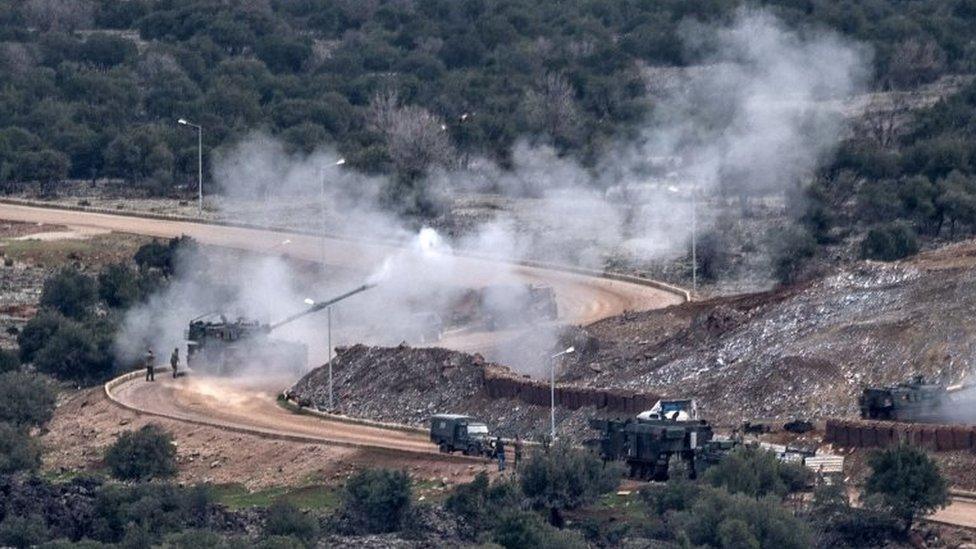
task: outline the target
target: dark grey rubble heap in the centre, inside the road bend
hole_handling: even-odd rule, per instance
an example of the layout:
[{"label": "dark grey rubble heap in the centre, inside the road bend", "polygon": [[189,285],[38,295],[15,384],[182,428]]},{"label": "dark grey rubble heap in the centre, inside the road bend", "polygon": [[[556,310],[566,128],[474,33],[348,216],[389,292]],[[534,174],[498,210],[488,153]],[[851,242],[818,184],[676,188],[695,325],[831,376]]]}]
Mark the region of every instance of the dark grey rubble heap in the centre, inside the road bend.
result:
[{"label": "dark grey rubble heap in the centre, inside the road bend", "polygon": [[[460,413],[483,419],[494,433],[528,439],[541,438],[549,430],[548,386],[487,362],[480,355],[406,345],[355,345],[337,349],[332,366],[335,396],[344,414],[426,427],[433,414]],[[644,399],[638,403],[632,391],[611,397],[593,389],[558,389],[557,421],[560,429],[573,433],[577,441],[588,435],[588,418],[621,414],[588,405],[582,394],[602,395],[593,400],[611,402],[629,411],[651,398],[637,395]],[[328,391],[328,368],[323,366],[308,373],[287,393],[304,406],[325,410]],[[538,402],[526,402],[528,399]]]}]

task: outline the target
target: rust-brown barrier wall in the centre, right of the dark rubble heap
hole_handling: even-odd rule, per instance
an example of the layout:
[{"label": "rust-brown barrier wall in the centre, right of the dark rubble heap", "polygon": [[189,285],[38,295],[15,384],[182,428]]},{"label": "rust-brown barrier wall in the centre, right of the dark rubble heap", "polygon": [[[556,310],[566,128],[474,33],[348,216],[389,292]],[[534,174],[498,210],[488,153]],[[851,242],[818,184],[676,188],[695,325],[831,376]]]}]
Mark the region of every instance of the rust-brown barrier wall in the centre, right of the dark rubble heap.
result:
[{"label": "rust-brown barrier wall in the centre, right of the dark rubble heap", "polygon": [[[549,406],[551,398],[548,383],[516,377],[503,371],[485,371],[484,386],[491,398],[514,398],[536,406]],[[651,393],[564,385],[556,385],[555,396],[557,406],[570,410],[592,406],[633,414],[649,410],[661,398]]]}]

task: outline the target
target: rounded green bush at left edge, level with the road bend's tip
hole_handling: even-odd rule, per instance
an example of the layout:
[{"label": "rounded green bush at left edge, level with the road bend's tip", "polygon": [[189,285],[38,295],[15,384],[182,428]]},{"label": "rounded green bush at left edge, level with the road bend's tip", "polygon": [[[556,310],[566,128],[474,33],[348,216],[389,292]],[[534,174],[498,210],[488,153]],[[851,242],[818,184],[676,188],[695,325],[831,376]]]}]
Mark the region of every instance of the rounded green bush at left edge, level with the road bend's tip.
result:
[{"label": "rounded green bush at left edge, level with the road bend's tip", "polygon": [[0,374],[0,421],[39,427],[54,415],[57,395],[49,379],[25,372]]}]

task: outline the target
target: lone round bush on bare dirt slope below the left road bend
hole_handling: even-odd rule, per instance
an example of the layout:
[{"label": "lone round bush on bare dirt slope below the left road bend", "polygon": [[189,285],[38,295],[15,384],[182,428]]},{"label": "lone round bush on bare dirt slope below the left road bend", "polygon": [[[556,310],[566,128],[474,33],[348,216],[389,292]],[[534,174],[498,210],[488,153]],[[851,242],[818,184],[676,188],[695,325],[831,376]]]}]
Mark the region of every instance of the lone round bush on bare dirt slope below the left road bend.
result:
[{"label": "lone round bush on bare dirt slope below the left road bend", "polygon": [[151,480],[176,474],[173,437],[162,427],[149,424],[123,433],[105,453],[112,476],[121,480]]}]

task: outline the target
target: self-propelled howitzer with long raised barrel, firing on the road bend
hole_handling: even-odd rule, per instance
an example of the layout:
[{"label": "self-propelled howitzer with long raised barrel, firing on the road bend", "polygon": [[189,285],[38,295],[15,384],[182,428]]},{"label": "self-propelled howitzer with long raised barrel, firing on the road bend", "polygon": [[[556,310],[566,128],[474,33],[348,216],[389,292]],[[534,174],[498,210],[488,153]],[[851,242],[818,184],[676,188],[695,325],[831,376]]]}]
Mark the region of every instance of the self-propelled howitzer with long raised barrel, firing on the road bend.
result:
[{"label": "self-propelled howitzer with long raised barrel, firing on the road bend", "polygon": [[308,348],[302,343],[274,339],[271,332],[371,287],[367,284],[315,303],[274,324],[244,317],[231,321],[217,313],[194,318],[186,331],[187,366],[216,375],[232,374],[245,367],[302,375],[308,369]]}]

